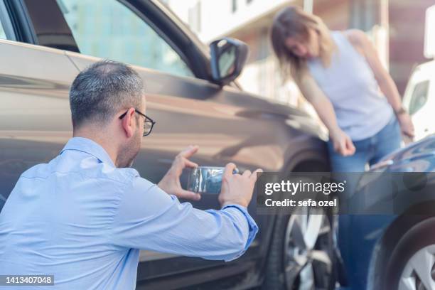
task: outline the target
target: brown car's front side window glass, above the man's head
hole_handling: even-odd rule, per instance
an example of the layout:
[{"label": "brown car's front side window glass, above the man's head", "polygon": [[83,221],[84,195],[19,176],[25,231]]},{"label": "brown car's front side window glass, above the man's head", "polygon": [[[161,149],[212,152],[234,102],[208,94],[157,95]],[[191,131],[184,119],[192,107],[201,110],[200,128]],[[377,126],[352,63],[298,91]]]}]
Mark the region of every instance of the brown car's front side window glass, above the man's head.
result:
[{"label": "brown car's front side window glass, above the man's head", "polygon": [[176,50],[116,0],[57,0],[80,53],[193,76]]}]

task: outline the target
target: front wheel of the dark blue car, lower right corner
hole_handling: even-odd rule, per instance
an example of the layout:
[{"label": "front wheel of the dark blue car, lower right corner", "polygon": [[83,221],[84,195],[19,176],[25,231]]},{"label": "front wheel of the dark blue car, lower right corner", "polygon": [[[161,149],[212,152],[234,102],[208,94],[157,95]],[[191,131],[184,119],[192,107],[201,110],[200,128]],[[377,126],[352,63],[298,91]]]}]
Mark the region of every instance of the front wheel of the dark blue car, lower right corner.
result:
[{"label": "front wheel of the dark blue car, lower right corner", "polygon": [[435,218],[412,227],[392,251],[386,284],[388,289],[435,289]]}]

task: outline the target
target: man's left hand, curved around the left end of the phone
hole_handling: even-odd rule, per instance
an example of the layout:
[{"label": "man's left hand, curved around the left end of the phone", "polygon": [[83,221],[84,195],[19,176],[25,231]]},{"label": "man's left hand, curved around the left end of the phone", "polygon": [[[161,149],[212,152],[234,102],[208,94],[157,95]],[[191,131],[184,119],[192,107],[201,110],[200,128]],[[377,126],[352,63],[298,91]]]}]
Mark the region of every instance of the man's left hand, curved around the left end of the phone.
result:
[{"label": "man's left hand, curved around the left end of the phone", "polygon": [[200,200],[201,195],[199,193],[193,193],[192,191],[184,190],[181,188],[180,176],[183,173],[183,169],[186,167],[197,167],[198,164],[194,163],[188,158],[198,151],[198,145],[190,145],[188,148],[181,151],[172,163],[171,168],[163,176],[159,182],[159,188],[163,189],[168,194],[176,195],[178,198],[186,198],[190,200]]}]

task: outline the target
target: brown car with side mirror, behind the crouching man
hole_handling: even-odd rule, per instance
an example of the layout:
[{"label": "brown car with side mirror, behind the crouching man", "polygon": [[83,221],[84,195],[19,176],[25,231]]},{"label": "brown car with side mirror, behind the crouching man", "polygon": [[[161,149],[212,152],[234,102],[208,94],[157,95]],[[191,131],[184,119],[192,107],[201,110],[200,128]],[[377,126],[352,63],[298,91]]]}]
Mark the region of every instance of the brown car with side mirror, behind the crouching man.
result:
[{"label": "brown car with side mirror, behind the crouching man", "polygon": [[[205,166],[232,161],[241,171],[260,167],[283,176],[328,171],[325,138],[313,119],[243,92],[235,82],[246,58],[243,43],[228,38],[209,49],[157,1],[0,0],[0,19],[0,209],[20,174],[53,159],[70,139],[70,84],[101,58],[130,63],[144,79],[146,114],[157,124],[134,168],[154,183],[189,144],[200,146],[193,161]],[[218,196],[206,193],[193,205],[220,208]],[[309,250],[323,250],[324,243],[316,241],[331,241],[326,216],[322,230],[312,235],[311,215],[296,222],[288,215],[256,215],[254,202],[249,213],[260,230],[240,259],[225,263],[141,252],[137,288],[332,283],[331,263],[328,271],[318,267],[325,255],[323,262],[314,257],[295,264],[289,244],[289,222],[292,227],[302,222],[302,232],[314,239]]]}]

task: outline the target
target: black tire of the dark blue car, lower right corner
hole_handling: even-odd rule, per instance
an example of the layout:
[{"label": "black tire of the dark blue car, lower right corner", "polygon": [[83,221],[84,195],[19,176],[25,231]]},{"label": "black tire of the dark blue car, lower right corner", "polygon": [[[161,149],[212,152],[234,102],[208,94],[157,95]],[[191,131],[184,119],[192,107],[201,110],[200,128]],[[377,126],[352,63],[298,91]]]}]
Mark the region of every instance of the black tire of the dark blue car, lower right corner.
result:
[{"label": "black tire of the dark blue car, lower right corner", "polygon": [[[410,259],[420,249],[435,246],[435,217],[427,218],[408,230],[392,250],[391,258],[387,262],[386,279],[382,279],[379,289],[399,289],[399,281],[402,273]],[[428,271],[432,272],[432,279],[435,276],[434,266]],[[418,279],[416,283],[419,284]],[[424,289],[424,288],[417,288]],[[428,289],[429,290],[429,289]],[[432,289],[430,289],[432,290]]]}]

